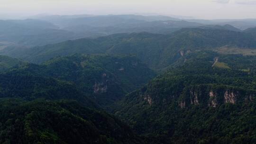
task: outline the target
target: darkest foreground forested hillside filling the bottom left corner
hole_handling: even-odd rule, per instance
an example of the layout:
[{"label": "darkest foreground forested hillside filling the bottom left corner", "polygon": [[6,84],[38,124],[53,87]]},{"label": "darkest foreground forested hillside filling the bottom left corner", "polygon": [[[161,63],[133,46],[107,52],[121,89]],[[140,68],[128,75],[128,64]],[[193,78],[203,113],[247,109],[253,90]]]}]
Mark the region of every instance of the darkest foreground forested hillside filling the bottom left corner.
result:
[{"label": "darkest foreground forested hillside filling the bottom left corner", "polygon": [[75,101],[0,99],[1,144],[144,144],[109,114]]}]

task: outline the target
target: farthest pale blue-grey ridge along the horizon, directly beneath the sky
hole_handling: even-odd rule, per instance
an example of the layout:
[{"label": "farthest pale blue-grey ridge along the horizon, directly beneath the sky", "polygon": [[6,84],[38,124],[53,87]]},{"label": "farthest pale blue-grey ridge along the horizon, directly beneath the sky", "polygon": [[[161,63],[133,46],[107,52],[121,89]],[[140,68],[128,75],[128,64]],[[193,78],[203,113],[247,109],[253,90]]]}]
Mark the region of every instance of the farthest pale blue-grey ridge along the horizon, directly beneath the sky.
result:
[{"label": "farthest pale blue-grey ridge along the horizon, directly beneath the sky", "polygon": [[54,23],[60,27],[72,27],[72,26],[91,26],[91,27],[110,27],[120,24],[139,24],[141,22],[151,22],[158,20],[180,20],[178,18],[171,18],[167,16],[141,16],[141,15],[50,15],[32,17],[35,19],[42,19]]}]

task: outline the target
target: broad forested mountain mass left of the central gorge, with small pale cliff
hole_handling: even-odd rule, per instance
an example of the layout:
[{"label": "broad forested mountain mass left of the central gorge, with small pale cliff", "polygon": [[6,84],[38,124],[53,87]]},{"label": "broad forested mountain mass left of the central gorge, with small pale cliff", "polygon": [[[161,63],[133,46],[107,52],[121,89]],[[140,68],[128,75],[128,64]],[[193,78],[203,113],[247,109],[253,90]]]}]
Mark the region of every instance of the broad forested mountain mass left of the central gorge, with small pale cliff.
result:
[{"label": "broad forested mountain mass left of the central gorge, with small pale cliff", "polygon": [[131,56],[73,55],[42,65],[24,64],[0,74],[1,97],[24,99],[87,98],[107,106],[155,76]]}]

